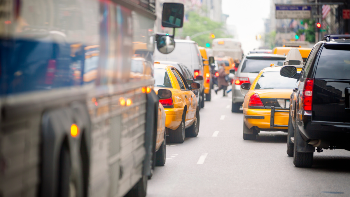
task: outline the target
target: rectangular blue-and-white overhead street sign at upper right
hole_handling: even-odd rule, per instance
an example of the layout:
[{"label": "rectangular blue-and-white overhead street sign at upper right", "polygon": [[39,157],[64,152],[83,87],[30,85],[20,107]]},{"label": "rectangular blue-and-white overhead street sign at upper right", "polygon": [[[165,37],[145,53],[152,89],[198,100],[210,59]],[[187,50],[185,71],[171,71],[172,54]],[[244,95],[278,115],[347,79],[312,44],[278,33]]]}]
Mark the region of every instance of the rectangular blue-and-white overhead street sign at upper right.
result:
[{"label": "rectangular blue-and-white overhead street sign at upper right", "polygon": [[310,19],[311,6],[276,6],[276,19]]}]

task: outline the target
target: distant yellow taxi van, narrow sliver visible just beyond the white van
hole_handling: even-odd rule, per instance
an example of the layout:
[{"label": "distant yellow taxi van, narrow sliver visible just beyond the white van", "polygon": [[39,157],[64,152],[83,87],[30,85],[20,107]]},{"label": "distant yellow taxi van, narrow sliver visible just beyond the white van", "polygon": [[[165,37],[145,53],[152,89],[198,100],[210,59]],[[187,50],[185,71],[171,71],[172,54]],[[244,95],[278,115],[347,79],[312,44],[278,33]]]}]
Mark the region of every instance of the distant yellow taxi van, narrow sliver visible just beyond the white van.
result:
[{"label": "distant yellow taxi van, narrow sliver visible just beyond the white van", "polygon": [[209,57],[207,56],[207,51],[205,50],[204,47],[199,47],[199,50],[201,52],[201,55],[203,57],[203,70],[204,70],[204,94],[205,94],[205,101],[210,101],[211,100],[211,83],[212,83],[212,76],[211,76],[211,67],[209,66]]}]

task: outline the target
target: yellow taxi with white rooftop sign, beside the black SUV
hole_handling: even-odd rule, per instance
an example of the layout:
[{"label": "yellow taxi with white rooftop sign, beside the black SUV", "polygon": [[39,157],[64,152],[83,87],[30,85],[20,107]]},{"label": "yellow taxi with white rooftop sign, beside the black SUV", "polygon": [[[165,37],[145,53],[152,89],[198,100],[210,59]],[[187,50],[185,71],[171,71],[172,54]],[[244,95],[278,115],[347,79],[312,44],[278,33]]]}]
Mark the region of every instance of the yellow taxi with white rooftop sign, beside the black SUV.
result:
[{"label": "yellow taxi with white rooftop sign, beside the black SUV", "polygon": [[[304,65],[300,53],[295,50],[286,57],[283,63],[283,65],[299,65],[298,74],[295,77],[281,76],[282,66],[271,64],[270,67],[259,72],[251,85],[250,83],[241,84],[241,89],[249,90],[243,102],[244,140],[255,140],[260,131],[287,132],[290,95]],[[298,57],[295,58],[296,55]]]}]

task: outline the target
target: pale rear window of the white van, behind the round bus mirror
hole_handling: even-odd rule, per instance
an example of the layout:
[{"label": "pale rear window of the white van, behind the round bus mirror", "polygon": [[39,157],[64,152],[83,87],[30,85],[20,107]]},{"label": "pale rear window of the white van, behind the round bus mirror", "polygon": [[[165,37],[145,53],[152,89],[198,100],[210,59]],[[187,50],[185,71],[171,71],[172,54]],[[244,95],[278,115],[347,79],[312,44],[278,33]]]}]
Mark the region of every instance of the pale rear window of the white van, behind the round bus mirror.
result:
[{"label": "pale rear window of the white van, behind the round bus mirror", "polygon": [[154,59],[157,61],[174,61],[191,65],[192,55],[190,43],[176,43],[174,51],[169,54],[162,54],[158,50],[154,50]]}]

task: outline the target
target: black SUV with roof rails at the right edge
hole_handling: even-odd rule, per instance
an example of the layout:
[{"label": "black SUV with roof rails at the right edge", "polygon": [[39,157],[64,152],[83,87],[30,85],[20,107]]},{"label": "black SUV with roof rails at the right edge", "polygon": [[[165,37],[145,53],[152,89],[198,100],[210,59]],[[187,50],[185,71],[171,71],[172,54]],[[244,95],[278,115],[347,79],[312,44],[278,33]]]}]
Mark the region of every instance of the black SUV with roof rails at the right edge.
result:
[{"label": "black SUV with roof rails at the right edge", "polygon": [[310,52],[290,95],[287,154],[296,167],[311,167],[315,148],[350,150],[350,36],[328,35]]}]

